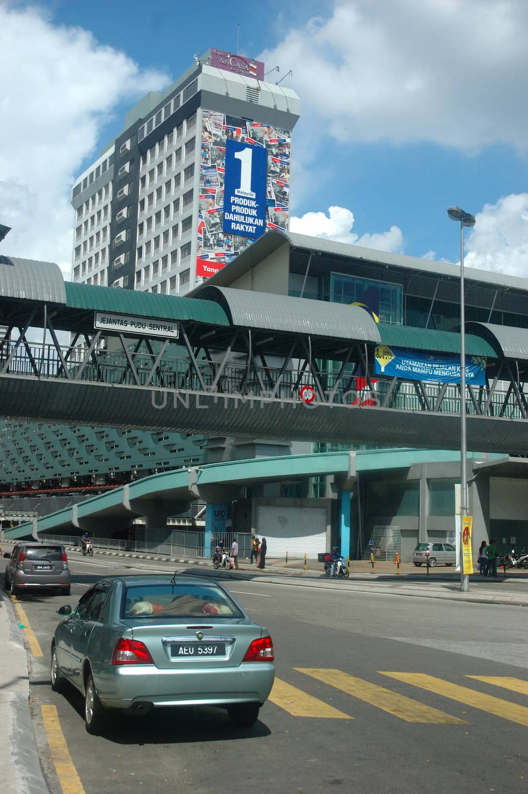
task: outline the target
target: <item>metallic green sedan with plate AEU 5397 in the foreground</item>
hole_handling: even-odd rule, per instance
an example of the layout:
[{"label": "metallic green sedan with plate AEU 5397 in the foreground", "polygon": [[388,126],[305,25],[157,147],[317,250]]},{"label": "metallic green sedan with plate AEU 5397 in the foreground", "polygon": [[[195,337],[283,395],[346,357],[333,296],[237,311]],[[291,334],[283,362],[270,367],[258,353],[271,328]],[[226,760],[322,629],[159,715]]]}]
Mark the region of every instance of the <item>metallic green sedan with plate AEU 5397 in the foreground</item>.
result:
[{"label": "metallic green sedan with plate AEU 5397 in the foreground", "polygon": [[141,715],[162,706],[222,706],[249,727],[271,692],[272,638],[216,582],[110,576],[57,613],[52,689],[66,681],[79,689],[91,734],[108,709]]}]

